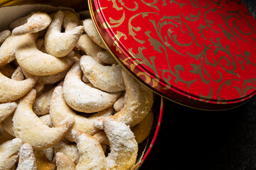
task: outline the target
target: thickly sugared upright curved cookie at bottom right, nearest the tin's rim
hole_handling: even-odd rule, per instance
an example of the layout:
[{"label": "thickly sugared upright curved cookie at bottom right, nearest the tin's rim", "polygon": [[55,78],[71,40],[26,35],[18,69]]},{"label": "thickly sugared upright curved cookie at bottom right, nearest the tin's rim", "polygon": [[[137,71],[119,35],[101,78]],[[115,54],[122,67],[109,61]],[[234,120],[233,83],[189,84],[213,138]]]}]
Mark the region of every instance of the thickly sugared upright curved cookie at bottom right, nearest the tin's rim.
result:
[{"label": "thickly sugared upright curved cookie at bottom right, nearest the tin's rim", "polygon": [[110,141],[107,170],[131,169],[137,159],[138,143],[129,126],[113,118],[95,121],[95,125],[105,131]]}]

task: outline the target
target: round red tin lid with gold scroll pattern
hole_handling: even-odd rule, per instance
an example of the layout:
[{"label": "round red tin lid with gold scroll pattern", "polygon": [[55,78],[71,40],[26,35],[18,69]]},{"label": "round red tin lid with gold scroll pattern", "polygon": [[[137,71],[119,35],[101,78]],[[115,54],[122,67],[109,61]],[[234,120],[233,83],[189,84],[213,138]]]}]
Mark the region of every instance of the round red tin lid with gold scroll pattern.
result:
[{"label": "round red tin lid with gold scroll pattern", "polygon": [[89,0],[110,52],[157,94],[233,108],[255,95],[256,22],[238,0]]}]

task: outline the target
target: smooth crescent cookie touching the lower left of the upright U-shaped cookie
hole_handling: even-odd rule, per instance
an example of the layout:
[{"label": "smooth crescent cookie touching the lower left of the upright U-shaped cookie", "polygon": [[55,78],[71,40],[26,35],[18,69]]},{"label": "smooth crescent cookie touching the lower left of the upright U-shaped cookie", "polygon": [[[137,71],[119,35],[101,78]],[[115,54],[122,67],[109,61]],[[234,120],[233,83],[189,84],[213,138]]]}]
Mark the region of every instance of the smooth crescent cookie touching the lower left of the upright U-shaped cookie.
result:
[{"label": "smooth crescent cookie touching the lower left of the upright U-shaped cookie", "polygon": [[23,35],[20,45],[16,48],[16,60],[26,72],[36,76],[48,76],[69,69],[75,62],[73,57],[57,58],[41,52],[36,47],[38,34]]}]

